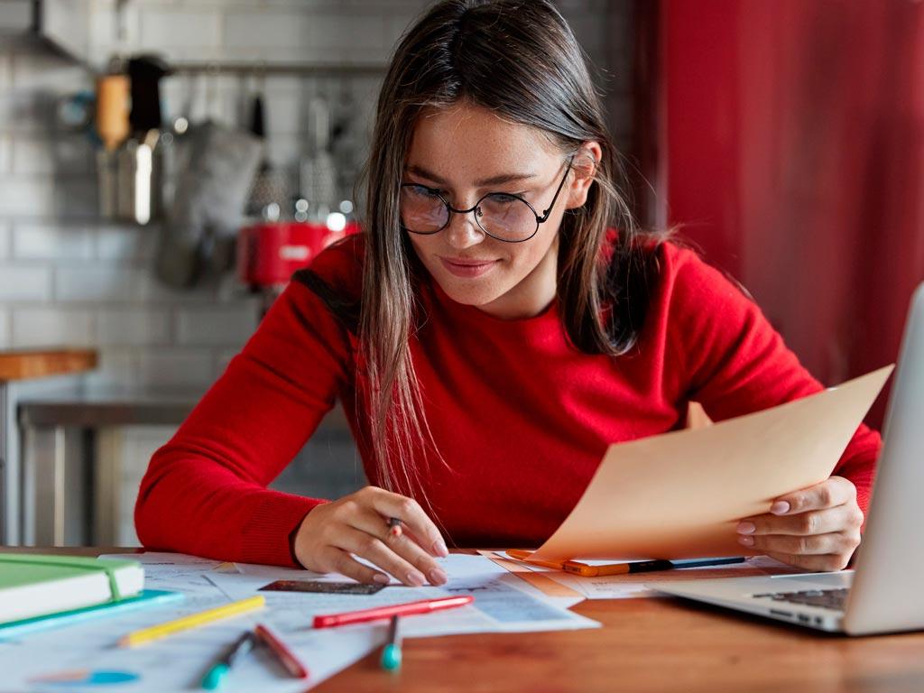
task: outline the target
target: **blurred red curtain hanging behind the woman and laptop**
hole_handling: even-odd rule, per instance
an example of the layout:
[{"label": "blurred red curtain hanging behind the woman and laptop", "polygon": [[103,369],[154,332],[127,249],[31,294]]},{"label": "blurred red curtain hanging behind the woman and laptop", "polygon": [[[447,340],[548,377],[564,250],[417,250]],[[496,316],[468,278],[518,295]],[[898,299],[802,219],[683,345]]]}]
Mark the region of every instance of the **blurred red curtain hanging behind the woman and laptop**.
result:
[{"label": "blurred red curtain hanging behind the woman and laptop", "polygon": [[924,3],[662,0],[658,45],[661,221],[823,383],[897,359],[924,280]]}]

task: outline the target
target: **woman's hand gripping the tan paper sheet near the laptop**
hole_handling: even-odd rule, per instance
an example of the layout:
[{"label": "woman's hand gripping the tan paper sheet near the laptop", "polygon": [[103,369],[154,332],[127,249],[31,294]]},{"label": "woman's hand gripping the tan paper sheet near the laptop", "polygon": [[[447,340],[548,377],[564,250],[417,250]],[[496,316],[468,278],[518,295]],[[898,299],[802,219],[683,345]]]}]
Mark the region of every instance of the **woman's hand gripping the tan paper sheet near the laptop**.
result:
[{"label": "woman's hand gripping the tan paper sheet near the laptop", "polygon": [[860,543],[857,487],[831,477],[777,498],[767,515],[738,522],[738,542],[800,568],[841,570]]}]

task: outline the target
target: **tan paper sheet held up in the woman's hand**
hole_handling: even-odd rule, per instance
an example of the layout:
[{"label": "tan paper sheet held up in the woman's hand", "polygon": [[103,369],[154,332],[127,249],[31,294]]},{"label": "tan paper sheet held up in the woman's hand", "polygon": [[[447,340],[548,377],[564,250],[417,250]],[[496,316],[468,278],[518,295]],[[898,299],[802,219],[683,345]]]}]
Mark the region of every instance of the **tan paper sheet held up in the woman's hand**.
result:
[{"label": "tan paper sheet held up in the woman's hand", "polygon": [[571,514],[532,557],[753,554],[741,517],[827,479],[894,366],[706,428],[610,445]]}]

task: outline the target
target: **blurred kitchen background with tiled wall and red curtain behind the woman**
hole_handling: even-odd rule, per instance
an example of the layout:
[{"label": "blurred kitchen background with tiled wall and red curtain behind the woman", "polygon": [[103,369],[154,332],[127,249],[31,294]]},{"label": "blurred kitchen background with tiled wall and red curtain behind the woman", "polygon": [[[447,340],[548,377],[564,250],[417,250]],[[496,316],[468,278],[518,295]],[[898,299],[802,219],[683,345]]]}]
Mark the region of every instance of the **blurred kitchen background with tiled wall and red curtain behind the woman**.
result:
[{"label": "blurred kitchen background with tiled wall and red curtain behind the woman", "polygon": [[[924,4],[556,4],[638,219],[682,225],[823,383],[894,361],[924,279]],[[153,451],[358,229],[379,84],[428,5],[0,0],[4,543],[137,542]],[[274,487],[364,482],[336,407]]]}]

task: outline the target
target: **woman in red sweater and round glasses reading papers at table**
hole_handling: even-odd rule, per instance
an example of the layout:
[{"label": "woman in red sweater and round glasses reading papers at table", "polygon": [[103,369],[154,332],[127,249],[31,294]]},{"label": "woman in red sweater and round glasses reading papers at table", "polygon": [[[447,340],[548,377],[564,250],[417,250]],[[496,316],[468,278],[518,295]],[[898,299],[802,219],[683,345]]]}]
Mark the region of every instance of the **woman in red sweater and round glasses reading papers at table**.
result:
[{"label": "woman in red sweater and round glasses reading papers at table", "polygon": [[[551,3],[433,6],[383,82],[367,233],[293,277],[152,457],[141,541],[439,585],[446,541],[541,543],[608,444],[682,427],[690,400],[726,419],[821,390],[735,285],[638,231],[619,173]],[[373,485],[268,490],[336,398]],[[745,518],[742,544],[844,567],[880,444],[861,427],[829,480]]]}]

